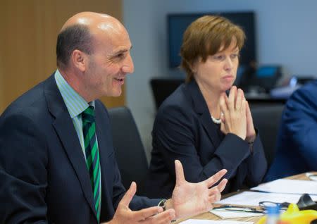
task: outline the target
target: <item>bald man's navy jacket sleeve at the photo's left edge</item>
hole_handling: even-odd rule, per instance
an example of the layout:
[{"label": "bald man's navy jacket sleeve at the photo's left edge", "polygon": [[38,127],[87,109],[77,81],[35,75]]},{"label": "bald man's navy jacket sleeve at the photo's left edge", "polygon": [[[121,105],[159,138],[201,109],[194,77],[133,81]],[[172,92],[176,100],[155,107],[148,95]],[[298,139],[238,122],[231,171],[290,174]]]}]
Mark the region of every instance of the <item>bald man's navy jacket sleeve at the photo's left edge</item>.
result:
[{"label": "bald man's navy jacket sleeve at the photo's left edge", "polygon": [[47,163],[39,127],[20,114],[1,116],[0,223],[47,223]]}]

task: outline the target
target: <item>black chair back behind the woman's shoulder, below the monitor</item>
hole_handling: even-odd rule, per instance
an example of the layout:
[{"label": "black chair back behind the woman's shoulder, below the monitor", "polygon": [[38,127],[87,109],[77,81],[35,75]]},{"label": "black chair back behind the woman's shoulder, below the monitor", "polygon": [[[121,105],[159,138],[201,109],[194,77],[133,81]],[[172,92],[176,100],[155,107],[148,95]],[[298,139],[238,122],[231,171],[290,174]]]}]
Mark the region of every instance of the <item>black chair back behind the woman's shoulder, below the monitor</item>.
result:
[{"label": "black chair back behind the woman's shoulder, below the monitor", "polygon": [[150,85],[154,96],[156,110],[159,109],[163,101],[184,82],[184,79],[152,78],[150,80]]}]

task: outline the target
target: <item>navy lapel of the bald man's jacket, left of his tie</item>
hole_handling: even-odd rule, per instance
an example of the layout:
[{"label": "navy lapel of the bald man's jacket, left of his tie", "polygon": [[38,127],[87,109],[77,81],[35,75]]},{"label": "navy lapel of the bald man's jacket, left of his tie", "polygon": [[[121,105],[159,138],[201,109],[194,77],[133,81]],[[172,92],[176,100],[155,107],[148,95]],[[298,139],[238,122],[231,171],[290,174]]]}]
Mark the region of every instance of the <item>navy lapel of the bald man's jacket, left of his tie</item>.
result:
[{"label": "navy lapel of the bald man's jacket, left of his tie", "polygon": [[73,125],[73,120],[70,118],[63,97],[61,97],[58,90],[54,75],[51,75],[51,77],[46,80],[44,94],[49,111],[55,117],[53,123],[54,129],[56,130],[59,139],[61,139],[63,149],[66,151],[68,159],[75,170],[87,203],[96,216],[93,206],[92,186],[89,180],[90,178],[86,167],[85,157],[82,154],[82,148]]}]

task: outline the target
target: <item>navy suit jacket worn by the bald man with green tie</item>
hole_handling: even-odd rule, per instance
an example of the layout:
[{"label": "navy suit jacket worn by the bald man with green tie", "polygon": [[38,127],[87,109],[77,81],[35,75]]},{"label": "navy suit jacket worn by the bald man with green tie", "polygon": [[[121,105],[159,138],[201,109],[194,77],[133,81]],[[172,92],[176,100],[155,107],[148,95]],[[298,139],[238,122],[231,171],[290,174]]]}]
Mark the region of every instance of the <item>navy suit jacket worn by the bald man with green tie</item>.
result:
[{"label": "navy suit jacket worn by the bald man with green tie", "polygon": [[[108,112],[95,107],[101,164],[101,221],[125,194]],[[97,223],[85,157],[54,75],[15,100],[0,117],[0,223]],[[135,197],[142,209],[159,200]]]}]

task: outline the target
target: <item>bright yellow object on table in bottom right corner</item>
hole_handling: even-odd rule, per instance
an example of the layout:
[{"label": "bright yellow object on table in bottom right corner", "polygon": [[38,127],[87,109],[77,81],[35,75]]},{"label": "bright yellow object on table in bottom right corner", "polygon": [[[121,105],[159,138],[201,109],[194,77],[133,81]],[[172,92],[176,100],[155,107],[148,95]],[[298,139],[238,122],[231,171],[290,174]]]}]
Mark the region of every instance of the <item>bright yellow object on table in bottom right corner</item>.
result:
[{"label": "bright yellow object on table in bottom right corner", "polygon": [[[296,204],[290,204],[287,211],[280,215],[280,222],[285,224],[310,224],[312,220],[317,219],[316,210],[299,211]],[[266,216],[261,218],[257,224],[265,224]]]}]

